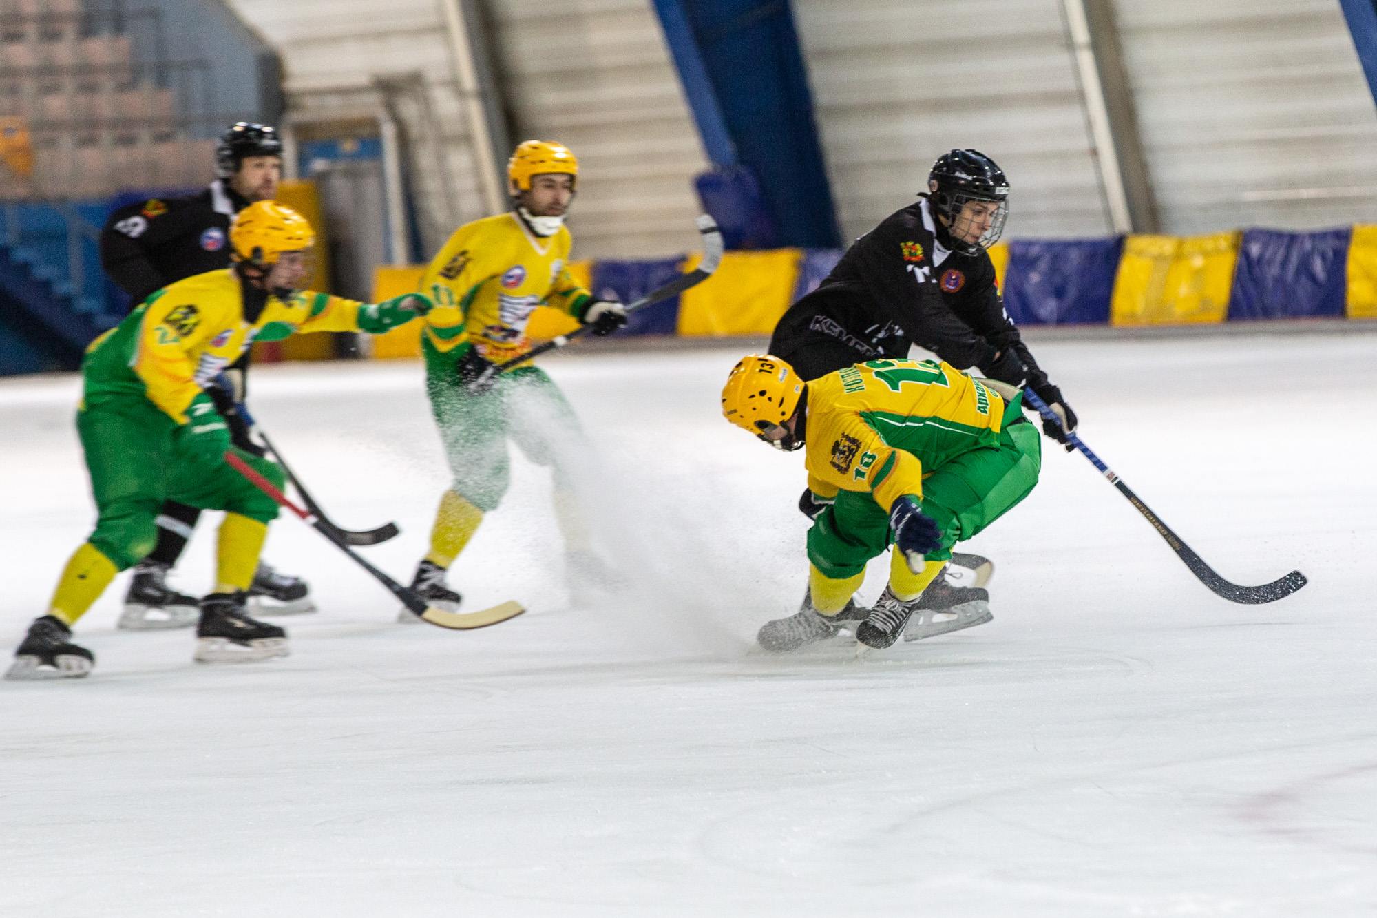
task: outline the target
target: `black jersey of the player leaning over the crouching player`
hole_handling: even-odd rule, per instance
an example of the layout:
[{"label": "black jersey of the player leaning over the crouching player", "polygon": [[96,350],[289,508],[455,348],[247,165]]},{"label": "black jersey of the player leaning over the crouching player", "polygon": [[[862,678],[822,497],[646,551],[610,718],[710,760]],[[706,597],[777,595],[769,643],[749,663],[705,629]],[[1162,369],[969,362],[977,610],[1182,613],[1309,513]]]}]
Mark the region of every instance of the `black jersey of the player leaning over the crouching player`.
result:
[{"label": "black jersey of the player leaning over the crouching player", "polygon": [[1047,383],[1004,312],[989,254],[943,247],[927,198],[858,238],[779,318],[770,353],[817,379],[866,360],[907,357],[910,345],[1015,386]]}]

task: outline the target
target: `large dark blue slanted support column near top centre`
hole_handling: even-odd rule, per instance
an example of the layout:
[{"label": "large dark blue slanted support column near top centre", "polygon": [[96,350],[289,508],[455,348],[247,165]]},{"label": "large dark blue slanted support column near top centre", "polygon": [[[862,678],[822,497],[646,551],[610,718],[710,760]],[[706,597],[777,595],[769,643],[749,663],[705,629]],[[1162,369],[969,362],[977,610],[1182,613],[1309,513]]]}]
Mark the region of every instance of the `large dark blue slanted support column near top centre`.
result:
[{"label": "large dark blue slanted support column near top centre", "polygon": [[[789,3],[654,0],[654,6],[715,167],[698,182],[709,211],[712,200],[735,200],[744,214],[741,221],[726,221],[724,230],[734,222],[755,227],[742,230],[755,238],[738,244],[839,245]],[[767,219],[752,221],[752,208]],[[733,233],[727,236],[731,244]]]}]

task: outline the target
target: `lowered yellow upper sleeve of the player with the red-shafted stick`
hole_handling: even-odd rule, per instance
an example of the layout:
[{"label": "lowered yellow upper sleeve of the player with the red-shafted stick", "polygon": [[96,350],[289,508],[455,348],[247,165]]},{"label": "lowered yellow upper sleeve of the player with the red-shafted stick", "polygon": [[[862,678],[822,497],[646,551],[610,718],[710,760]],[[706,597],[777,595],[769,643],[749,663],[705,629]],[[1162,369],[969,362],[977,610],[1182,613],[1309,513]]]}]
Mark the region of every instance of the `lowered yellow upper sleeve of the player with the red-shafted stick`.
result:
[{"label": "lowered yellow upper sleeve of the player with the red-shafted stick", "polygon": [[187,405],[201,394],[191,351],[213,324],[202,320],[198,306],[161,296],[145,307],[139,324],[134,372],[143,380],[149,401],[179,425],[186,423]]}]

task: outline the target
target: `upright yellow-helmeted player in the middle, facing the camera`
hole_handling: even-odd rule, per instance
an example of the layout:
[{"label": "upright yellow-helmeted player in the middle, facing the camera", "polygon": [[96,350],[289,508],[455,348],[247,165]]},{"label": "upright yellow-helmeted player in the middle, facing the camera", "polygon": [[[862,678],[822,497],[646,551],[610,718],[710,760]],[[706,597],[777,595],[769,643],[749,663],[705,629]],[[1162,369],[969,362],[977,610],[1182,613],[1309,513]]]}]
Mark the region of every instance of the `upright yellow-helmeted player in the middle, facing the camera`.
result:
[{"label": "upright yellow-helmeted player in the middle, facing the camera", "polygon": [[[536,365],[503,374],[494,365],[530,350],[526,325],[537,306],[569,313],[593,335],[621,328],[627,313],[621,303],[592,296],[565,267],[573,244],[565,214],[578,178],[569,147],[526,141],[512,153],[507,178],[512,210],[460,226],[421,280],[435,300],[421,335],[425,390],[454,481],[441,496],[430,553],[412,589],[449,609],[460,595],[445,584],[445,573],[507,492],[508,440],[532,462],[552,466],[570,579],[602,572],[560,463],[560,445],[567,449],[581,438],[573,409]],[[398,620],[417,619],[403,611]]]}]

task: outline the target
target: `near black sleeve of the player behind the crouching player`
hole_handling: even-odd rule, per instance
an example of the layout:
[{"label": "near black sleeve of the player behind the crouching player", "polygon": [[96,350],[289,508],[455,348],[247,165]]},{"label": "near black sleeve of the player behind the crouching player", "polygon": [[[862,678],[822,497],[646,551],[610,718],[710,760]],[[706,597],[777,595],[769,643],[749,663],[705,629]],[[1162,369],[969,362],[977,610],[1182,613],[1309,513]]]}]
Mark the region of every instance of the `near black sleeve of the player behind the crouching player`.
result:
[{"label": "near black sleeve of the player behind the crouching player", "polygon": [[[856,243],[863,247],[861,267],[866,285],[884,318],[903,329],[910,343],[931,350],[957,369],[974,367],[987,360],[994,351],[972,327],[952,312],[938,294],[936,284],[918,278],[918,270],[929,273],[939,270],[932,266],[931,236],[905,221],[899,211],[880,223],[872,233]],[[923,261],[905,261],[905,243],[913,244],[914,236],[923,234],[927,251]]]}]

